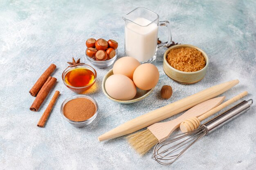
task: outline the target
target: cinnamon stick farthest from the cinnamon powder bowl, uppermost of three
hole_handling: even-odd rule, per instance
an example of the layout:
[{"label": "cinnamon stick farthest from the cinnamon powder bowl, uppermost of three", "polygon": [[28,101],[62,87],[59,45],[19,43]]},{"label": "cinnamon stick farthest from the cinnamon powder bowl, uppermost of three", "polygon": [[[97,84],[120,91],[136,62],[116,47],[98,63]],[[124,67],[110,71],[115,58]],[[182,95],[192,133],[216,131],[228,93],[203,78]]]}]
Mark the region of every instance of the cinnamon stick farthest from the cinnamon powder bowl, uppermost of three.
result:
[{"label": "cinnamon stick farthest from the cinnamon powder bowl, uppermost of three", "polygon": [[39,79],[36,81],[36,83],[34,84],[34,86],[30,89],[29,93],[31,94],[31,96],[36,97],[36,95],[38,94],[38,92],[40,91],[40,89],[42,88],[42,86],[45,84],[45,82],[47,81],[48,77],[54,72],[56,68],[55,64],[51,64],[46,70],[45,72],[39,77]]}]

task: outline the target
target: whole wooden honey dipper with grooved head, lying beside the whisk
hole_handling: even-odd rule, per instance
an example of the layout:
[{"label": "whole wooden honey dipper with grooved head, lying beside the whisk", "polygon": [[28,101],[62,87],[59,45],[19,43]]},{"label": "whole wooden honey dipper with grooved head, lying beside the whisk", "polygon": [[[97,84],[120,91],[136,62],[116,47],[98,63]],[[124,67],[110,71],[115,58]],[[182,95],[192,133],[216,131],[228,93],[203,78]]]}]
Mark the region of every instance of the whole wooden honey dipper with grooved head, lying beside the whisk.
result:
[{"label": "whole wooden honey dipper with grooved head, lying beside the whisk", "polygon": [[217,106],[216,108],[213,108],[212,110],[208,111],[207,113],[204,113],[200,117],[191,117],[189,119],[186,119],[182,121],[180,124],[180,130],[182,132],[189,132],[191,130],[197,129],[200,126],[200,121],[206,119],[207,117],[210,117],[214,113],[217,113],[218,111],[222,110],[223,108],[229,106],[230,104],[238,101],[239,99],[245,97],[248,94],[247,91],[244,91],[243,93],[240,93],[239,95],[236,95],[235,97],[229,99],[227,102],[224,102]]}]

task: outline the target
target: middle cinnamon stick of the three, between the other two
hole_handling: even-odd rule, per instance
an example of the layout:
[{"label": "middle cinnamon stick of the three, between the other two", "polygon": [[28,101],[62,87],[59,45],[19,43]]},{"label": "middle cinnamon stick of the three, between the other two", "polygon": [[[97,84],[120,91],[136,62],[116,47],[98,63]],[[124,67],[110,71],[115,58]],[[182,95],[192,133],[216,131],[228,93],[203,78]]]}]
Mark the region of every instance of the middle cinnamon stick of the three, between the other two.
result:
[{"label": "middle cinnamon stick of the three, between the other two", "polygon": [[50,78],[49,82],[45,84],[44,88],[41,88],[33,104],[29,108],[31,111],[36,112],[40,108],[45,98],[47,97],[48,93],[51,91],[52,87],[56,83],[56,81],[57,79],[55,77],[52,77]]}]

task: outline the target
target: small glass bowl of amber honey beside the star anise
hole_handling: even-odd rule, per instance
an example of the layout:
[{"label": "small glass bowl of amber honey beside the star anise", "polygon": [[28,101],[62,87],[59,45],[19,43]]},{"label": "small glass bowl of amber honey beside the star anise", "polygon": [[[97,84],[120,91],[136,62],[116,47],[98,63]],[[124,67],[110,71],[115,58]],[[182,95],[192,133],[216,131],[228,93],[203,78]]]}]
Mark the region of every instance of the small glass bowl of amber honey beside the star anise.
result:
[{"label": "small glass bowl of amber honey beside the star anise", "polygon": [[87,64],[67,67],[62,73],[63,83],[75,93],[87,91],[96,82],[96,70]]}]

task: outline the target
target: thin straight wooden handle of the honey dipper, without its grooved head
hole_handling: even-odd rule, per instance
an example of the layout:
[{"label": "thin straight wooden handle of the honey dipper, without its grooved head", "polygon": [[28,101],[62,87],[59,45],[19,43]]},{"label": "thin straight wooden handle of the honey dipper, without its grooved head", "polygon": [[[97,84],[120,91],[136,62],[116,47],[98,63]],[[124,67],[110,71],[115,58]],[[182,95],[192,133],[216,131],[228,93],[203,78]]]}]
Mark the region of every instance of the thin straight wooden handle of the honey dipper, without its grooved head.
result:
[{"label": "thin straight wooden handle of the honey dipper, without its grooved head", "polygon": [[245,97],[246,95],[248,95],[247,91],[244,91],[243,93],[240,93],[239,95],[236,95],[235,97],[229,99],[227,102],[222,103],[221,105],[217,106],[216,108],[213,108],[209,112],[204,113],[202,116],[198,117],[199,121],[202,121],[202,120],[206,119],[207,117],[213,115],[214,113],[217,113],[218,111],[222,110],[223,108],[229,106],[229,104],[232,104],[232,103],[238,101],[239,99]]}]

